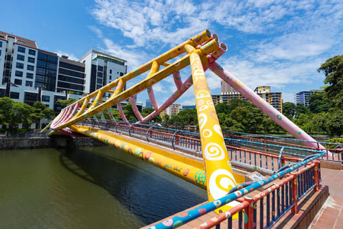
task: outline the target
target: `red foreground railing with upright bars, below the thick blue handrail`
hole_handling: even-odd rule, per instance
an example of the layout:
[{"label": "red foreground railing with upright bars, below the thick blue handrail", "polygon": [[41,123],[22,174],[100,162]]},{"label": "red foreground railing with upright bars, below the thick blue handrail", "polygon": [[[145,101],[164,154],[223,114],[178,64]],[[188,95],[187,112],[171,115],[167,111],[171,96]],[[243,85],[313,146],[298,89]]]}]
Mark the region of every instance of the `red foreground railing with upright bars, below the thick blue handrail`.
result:
[{"label": "red foreground railing with upright bars, below the thick blue handrail", "polygon": [[[220,223],[225,220],[226,228],[270,228],[287,212],[298,213],[298,201],[310,191],[318,191],[319,176],[319,162],[309,162],[298,172],[286,174],[265,191],[253,197],[238,198],[236,201],[240,204],[196,228],[221,228]],[[238,214],[238,220],[233,220],[235,214]]]}]

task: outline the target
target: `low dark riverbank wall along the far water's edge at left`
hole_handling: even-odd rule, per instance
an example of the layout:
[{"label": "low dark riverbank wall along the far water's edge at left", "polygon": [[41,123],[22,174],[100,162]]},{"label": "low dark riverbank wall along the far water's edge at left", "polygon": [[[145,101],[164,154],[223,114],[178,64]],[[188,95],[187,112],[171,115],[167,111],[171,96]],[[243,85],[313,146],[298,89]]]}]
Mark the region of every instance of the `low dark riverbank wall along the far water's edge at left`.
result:
[{"label": "low dark riverbank wall along the far water's edge at left", "polygon": [[93,138],[35,137],[35,138],[0,138],[0,150],[39,149],[39,148],[77,148],[106,146]]}]

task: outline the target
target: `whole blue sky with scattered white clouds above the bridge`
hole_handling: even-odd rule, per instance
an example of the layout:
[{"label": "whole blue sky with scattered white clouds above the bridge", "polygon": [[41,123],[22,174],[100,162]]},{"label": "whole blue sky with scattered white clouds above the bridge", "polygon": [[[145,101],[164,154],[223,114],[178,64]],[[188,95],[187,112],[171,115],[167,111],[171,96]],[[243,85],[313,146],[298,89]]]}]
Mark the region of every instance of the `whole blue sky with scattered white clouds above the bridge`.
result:
[{"label": "whole blue sky with scattered white clouds above the bridge", "polygon": [[[7,9],[1,10],[1,31],[74,59],[89,49],[104,51],[128,60],[129,70],[209,29],[228,46],[217,62],[252,89],[270,85],[281,91],[285,101],[324,86],[316,69],[343,54],[343,1],[12,0],[1,5]],[[182,71],[182,79],[189,73]],[[210,72],[206,77],[211,93],[219,94],[219,78]],[[154,86],[160,104],[176,89],[172,82]],[[145,104],[147,93],[138,98]],[[178,103],[194,104],[193,88]]]}]

